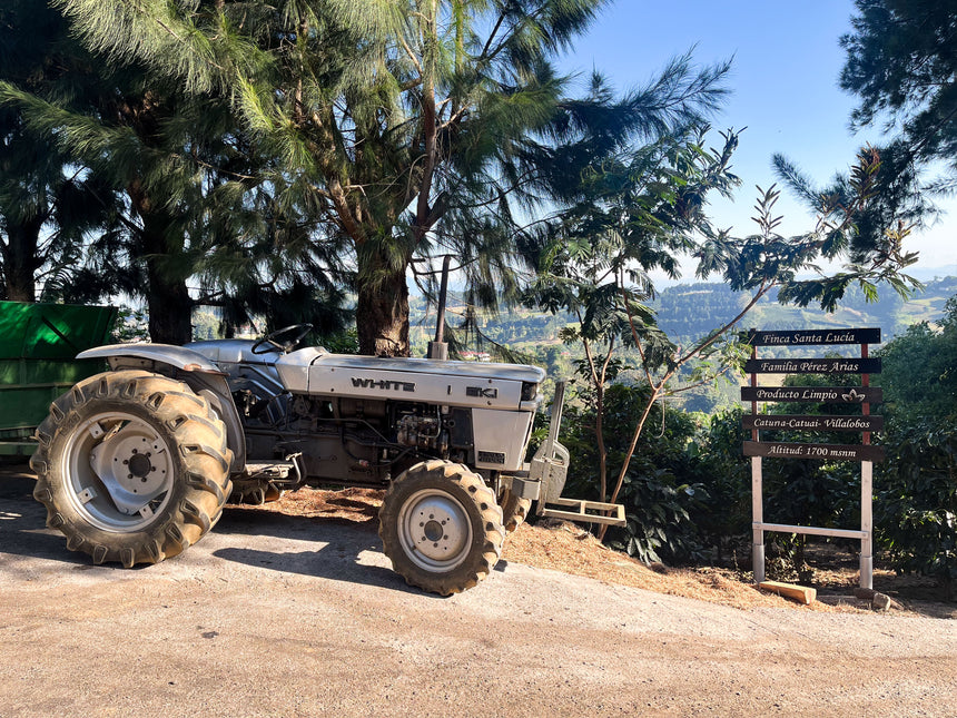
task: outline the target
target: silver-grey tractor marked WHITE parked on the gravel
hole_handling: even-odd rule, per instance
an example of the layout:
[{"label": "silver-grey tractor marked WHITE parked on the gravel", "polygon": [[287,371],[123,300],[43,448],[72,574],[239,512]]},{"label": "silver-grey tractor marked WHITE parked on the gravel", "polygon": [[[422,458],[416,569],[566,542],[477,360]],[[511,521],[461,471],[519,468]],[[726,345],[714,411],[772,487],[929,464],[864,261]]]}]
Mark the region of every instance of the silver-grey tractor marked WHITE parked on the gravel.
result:
[{"label": "silver-grey tractor marked WHITE parked on the gravel", "polygon": [[525,462],[542,370],[294,351],[309,328],[82,352],[110,371],[60,396],[37,430],[48,525],[96,563],[132,567],[196,543],[230,494],[384,488],[395,571],[447,596],[487,576],[532,500],[546,515],[623,523],[621,506],[560,498],[562,384],[549,439]]}]

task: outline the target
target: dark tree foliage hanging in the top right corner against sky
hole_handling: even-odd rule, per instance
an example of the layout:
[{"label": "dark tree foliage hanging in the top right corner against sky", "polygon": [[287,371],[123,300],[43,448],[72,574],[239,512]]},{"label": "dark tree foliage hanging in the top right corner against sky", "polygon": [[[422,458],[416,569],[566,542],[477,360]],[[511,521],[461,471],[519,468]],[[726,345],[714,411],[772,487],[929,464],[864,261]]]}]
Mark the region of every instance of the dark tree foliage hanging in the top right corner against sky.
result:
[{"label": "dark tree foliage hanging in the top right corner against sky", "polygon": [[939,159],[957,183],[957,4],[856,0],[854,32],[841,38],[841,88],[860,97],[857,127],[884,119],[910,155]]}]

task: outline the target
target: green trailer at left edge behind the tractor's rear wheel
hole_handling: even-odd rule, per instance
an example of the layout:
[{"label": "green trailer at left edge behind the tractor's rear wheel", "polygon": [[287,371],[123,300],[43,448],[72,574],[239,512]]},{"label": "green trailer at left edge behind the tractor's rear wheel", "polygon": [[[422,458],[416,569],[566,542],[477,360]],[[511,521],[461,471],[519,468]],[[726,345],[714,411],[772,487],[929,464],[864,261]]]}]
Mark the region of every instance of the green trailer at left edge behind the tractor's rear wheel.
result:
[{"label": "green trailer at left edge behind the tractor's rear wheel", "polygon": [[116,313],[105,306],[0,302],[0,454],[32,453],[27,441],[50,402],[102,371],[99,360],[75,357],[108,343]]}]

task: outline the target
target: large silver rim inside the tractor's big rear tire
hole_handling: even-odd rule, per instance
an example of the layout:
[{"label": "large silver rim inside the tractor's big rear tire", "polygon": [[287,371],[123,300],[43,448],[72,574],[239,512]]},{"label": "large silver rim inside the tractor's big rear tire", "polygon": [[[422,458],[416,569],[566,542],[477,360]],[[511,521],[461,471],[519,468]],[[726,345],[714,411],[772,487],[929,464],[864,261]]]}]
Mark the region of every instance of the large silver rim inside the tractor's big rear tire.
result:
[{"label": "large silver rim inside the tractor's big rear tire", "polygon": [[166,440],[139,416],[93,415],[73,431],[65,460],[68,499],[99,529],[138,531],[169,503],[172,455]]}]

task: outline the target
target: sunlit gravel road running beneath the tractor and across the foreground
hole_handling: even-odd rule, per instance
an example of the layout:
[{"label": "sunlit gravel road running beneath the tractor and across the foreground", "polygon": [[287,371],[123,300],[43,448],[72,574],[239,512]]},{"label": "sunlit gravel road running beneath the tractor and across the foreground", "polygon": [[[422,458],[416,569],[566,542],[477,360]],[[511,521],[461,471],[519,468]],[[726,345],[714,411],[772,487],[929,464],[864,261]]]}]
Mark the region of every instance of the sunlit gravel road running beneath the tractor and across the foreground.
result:
[{"label": "sunlit gravel road running beneath the tractor and across the foreground", "polygon": [[957,715],[957,622],[740,611],[502,562],[443,599],[355,525],[227,512],[93,567],[0,476],[0,716]]}]

